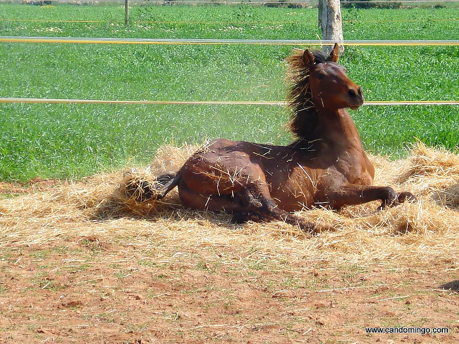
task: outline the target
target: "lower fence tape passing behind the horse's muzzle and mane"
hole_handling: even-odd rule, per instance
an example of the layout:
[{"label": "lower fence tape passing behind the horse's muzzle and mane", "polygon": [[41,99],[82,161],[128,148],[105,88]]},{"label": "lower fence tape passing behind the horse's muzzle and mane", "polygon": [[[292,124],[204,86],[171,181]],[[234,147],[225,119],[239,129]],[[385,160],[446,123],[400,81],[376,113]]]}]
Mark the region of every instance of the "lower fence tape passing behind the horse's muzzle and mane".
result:
[{"label": "lower fence tape passing behind the horse's muzzle and mane", "polygon": [[[103,100],[103,99],[51,99],[51,98],[0,98],[0,103],[38,104],[124,104],[124,105],[262,105],[286,106],[280,101],[182,101],[182,100]],[[459,100],[401,100],[366,101],[364,106],[384,105],[459,105]]]}]

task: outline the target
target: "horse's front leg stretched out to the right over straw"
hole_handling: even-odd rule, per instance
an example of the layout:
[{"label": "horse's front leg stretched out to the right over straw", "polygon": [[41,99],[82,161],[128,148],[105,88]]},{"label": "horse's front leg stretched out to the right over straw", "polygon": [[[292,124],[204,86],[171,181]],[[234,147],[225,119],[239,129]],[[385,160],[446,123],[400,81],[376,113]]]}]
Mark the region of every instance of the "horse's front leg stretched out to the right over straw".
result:
[{"label": "horse's front leg stretched out to the right over straw", "polygon": [[332,208],[341,208],[344,205],[363,204],[370,201],[381,200],[378,210],[383,210],[387,206],[394,206],[404,201],[416,201],[416,196],[410,192],[397,194],[389,186],[362,186],[348,184],[342,186],[337,191],[327,193],[328,201]]}]

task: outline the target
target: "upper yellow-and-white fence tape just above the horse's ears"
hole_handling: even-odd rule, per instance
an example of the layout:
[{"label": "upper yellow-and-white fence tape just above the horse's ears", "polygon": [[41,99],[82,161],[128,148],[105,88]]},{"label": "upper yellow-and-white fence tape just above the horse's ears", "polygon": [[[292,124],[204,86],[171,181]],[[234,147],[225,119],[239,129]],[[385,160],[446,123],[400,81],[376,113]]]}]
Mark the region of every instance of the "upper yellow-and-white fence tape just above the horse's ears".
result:
[{"label": "upper yellow-and-white fence tape just above the horse's ears", "polygon": [[163,45],[354,45],[354,46],[457,46],[459,40],[315,40],[315,39],[168,39],[112,37],[26,37],[0,36],[0,42],[14,43],[85,43],[85,44],[163,44]]}]

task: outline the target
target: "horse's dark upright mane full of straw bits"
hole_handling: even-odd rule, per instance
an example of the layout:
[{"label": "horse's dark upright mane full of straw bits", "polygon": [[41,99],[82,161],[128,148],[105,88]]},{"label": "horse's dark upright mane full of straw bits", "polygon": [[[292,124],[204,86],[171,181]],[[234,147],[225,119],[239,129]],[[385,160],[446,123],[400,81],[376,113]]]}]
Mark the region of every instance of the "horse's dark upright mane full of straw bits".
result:
[{"label": "horse's dark upright mane full of straw bits", "polygon": [[[320,51],[311,51],[316,63],[328,61]],[[322,136],[318,132],[320,124],[317,111],[312,101],[312,92],[309,87],[309,68],[303,58],[303,50],[287,58],[290,86],[287,91],[287,104],[292,109],[289,123],[290,131],[295,137],[295,145],[301,141],[314,141]]]}]

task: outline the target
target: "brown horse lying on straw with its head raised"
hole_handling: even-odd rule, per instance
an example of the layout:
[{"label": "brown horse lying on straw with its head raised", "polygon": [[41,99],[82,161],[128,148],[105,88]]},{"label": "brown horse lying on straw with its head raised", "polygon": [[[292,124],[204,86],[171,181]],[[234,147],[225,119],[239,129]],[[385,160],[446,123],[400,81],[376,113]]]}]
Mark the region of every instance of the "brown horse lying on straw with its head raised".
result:
[{"label": "brown horse lying on straw with its head raised", "polygon": [[[288,58],[292,85],[290,128],[296,140],[287,146],[214,140],[196,151],[176,174],[157,178],[145,196],[161,199],[175,186],[183,205],[223,210],[233,222],[282,220],[314,231],[323,226],[291,214],[313,205],[343,205],[381,200],[380,209],[416,198],[390,187],[371,186],[374,168],[346,108],[364,102],[362,89],[330,56],[309,50]],[[159,185],[159,186],[158,186]]]}]

